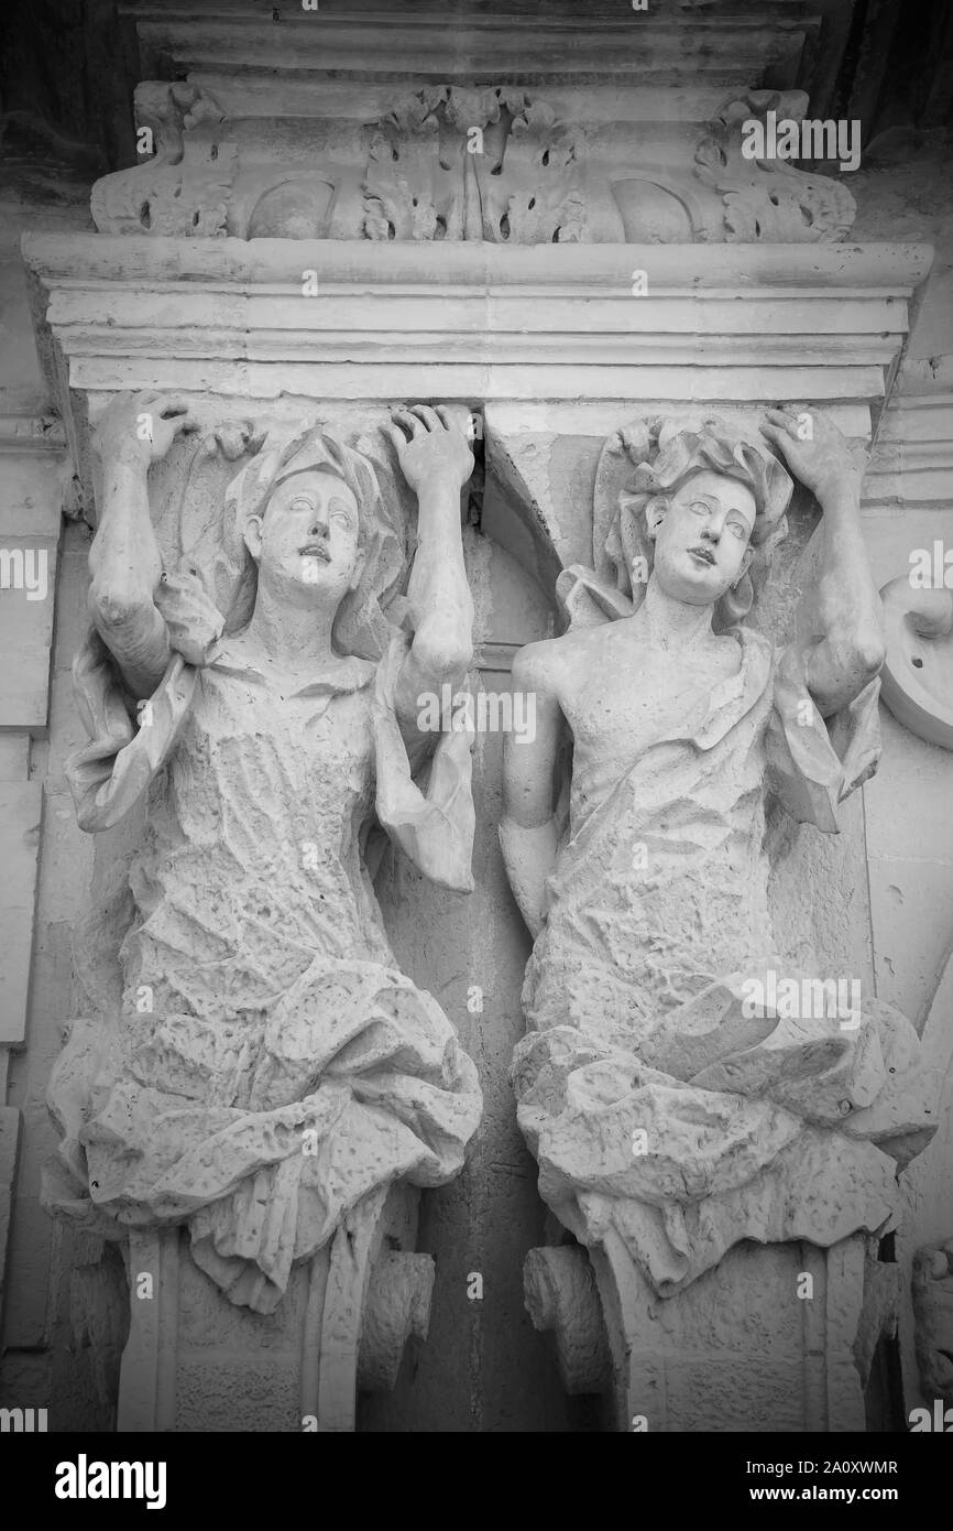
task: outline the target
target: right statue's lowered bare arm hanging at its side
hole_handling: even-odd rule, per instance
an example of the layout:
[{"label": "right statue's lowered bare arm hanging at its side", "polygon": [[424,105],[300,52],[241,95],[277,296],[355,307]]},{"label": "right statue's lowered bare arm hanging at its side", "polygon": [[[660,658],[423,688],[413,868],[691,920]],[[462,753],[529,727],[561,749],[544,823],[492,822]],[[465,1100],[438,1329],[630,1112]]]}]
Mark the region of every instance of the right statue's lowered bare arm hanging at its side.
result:
[{"label": "right statue's lowered bare arm hanging at its side", "polygon": [[554,773],[564,718],[551,681],[551,645],[529,643],[512,661],[512,689],[535,695],[532,741],[503,739],[503,816],[500,850],[520,914],[531,935],[546,919],[546,879],[558,847],[554,819]]}]

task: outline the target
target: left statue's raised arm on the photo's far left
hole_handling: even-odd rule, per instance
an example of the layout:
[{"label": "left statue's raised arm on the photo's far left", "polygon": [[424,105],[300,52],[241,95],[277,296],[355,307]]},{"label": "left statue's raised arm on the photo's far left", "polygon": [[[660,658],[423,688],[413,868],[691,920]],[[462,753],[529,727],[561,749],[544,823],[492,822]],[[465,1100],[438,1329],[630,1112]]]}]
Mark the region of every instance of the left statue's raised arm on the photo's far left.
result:
[{"label": "left statue's raised arm on the photo's far left", "polygon": [[179,400],[124,393],[109,406],[96,432],[102,498],[89,550],[89,606],[133,697],[150,697],[171,658],[165,620],[154,603],[162,559],[148,513],[147,473],[187,426]]}]

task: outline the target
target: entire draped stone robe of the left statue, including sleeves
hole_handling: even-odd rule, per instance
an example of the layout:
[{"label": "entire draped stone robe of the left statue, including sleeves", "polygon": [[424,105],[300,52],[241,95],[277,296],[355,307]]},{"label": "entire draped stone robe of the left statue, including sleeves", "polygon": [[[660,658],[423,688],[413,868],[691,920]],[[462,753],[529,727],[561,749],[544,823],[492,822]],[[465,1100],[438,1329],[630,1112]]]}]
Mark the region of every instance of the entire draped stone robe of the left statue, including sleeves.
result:
[{"label": "entire draped stone robe of the left statue, including sleeves", "polygon": [[376,819],[427,876],[473,886],[471,738],[439,739],[421,793],[393,704],[405,646],[304,684],[234,641],[202,668],[174,655],[139,729],[95,634],[75,666],[81,827],[142,793],[148,811],[121,1014],[73,1023],[50,1082],[47,1200],[104,1231],[188,1225],[197,1265],[259,1312],[375,1188],[453,1179],[480,1118],[363,860]]}]

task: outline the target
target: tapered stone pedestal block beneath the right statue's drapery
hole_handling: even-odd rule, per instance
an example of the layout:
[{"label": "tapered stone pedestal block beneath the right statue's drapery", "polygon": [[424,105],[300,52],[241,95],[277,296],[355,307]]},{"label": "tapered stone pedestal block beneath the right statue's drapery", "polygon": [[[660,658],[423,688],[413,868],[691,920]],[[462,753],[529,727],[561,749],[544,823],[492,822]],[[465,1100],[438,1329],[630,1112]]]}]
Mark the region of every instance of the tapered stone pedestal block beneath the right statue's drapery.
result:
[{"label": "tapered stone pedestal block beneath the right statue's drapery", "polygon": [[[872,1243],[739,1245],[661,1298],[610,1232],[589,1251],[531,1249],[526,1309],[554,1335],[566,1392],[601,1396],[610,1430],[750,1430],[759,1398],[762,1428],[863,1431],[866,1372],[896,1295]],[[797,1295],[805,1277],[811,1300]]]}]

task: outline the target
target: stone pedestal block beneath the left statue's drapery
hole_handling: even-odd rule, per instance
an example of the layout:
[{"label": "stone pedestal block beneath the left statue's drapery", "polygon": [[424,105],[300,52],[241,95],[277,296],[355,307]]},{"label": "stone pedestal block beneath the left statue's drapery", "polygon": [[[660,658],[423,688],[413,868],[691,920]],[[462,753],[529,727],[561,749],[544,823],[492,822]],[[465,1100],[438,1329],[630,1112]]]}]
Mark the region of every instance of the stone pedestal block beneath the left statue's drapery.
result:
[{"label": "stone pedestal block beneath the left statue's drapery", "polygon": [[[411,1252],[418,1202],[407,1185],[367,1197],[292,1272],[280,1335],[217,1298],[181,1229],[133,1231],[118,1428],[353,1431],[358,1393],[390,1392],[407,1341],[427,1338],[434,1263]],[[136,1301],[144,1291],[151,1301]]]}]

